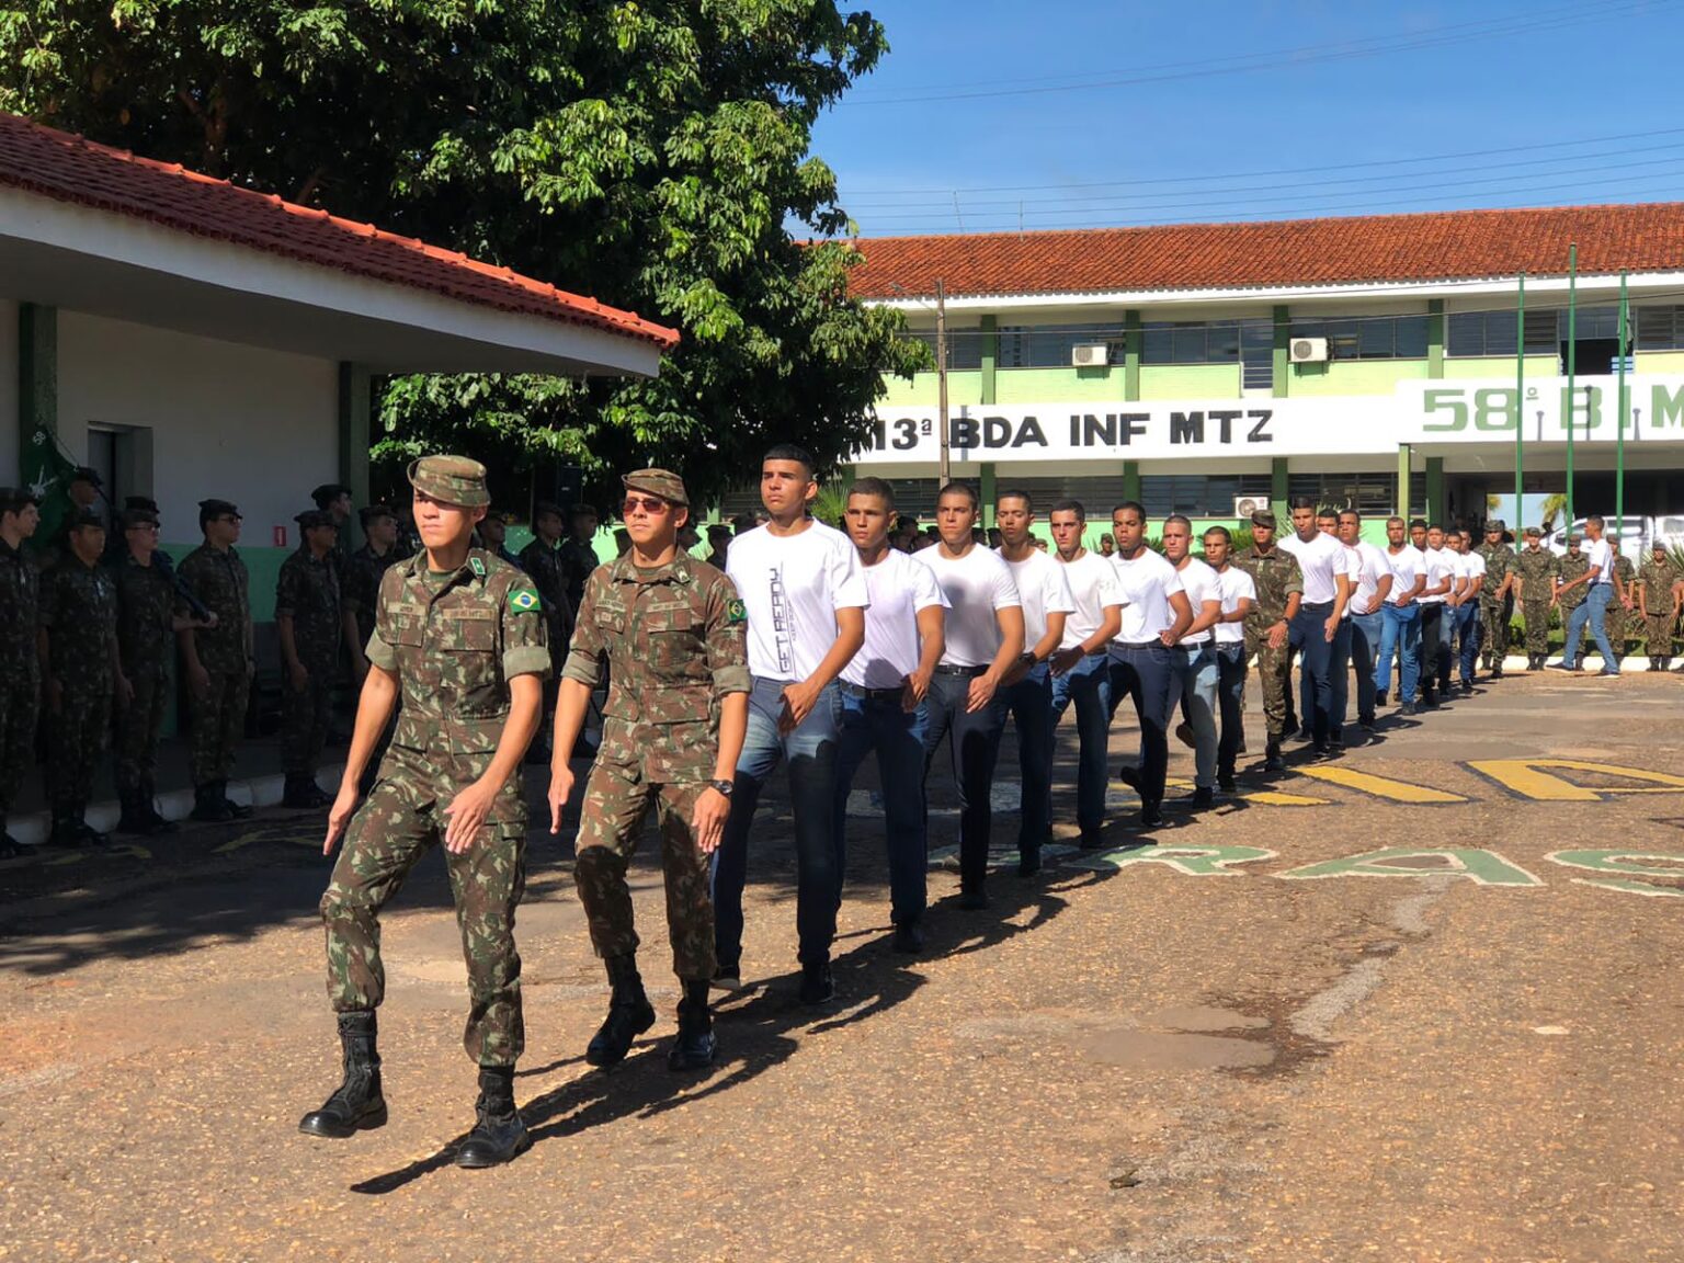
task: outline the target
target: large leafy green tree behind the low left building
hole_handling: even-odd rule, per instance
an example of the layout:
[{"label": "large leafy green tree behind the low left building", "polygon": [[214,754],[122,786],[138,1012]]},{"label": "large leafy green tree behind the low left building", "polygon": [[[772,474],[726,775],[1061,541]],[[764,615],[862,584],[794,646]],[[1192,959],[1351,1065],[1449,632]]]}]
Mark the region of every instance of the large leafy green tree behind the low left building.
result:
[{"label": "large leafy green tree behind the low left building", "polygon": [[658,381],[389,382],[376,456],[557,456],[610,493],[658,461],[709,495],[775,440],[845,460],[923,362],[849,296],[808,153],[886,47],[830,0],[0,0],[0,108],[680,327]]}]

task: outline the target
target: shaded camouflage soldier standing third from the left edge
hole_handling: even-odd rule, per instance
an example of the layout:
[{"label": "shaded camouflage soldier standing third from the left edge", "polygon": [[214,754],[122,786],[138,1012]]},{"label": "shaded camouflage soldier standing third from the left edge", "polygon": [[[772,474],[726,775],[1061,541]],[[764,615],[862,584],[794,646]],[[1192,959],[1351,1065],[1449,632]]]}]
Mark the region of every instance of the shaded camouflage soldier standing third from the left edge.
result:
[{"label": "shaded camouflage soldier standing third from the left edge", "polygon": [[111,566],[116,583],[116,643],[128,692],[116,712],[116,797],[120,834],[162,834],[175,827],[155,802],[158,733],[170,702],[173,633],[194,626],[175,594],[175,576],[157,564],[158,519],[125,509],[123,556]]}]

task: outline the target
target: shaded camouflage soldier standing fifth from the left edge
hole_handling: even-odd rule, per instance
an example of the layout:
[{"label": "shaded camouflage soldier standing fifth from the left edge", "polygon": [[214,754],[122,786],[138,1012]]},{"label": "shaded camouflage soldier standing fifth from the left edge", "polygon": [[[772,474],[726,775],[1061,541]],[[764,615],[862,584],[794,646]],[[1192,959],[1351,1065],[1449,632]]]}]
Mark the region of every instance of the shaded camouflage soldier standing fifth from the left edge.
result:
[{"label": "shaded camouflage soldier standing fifth from the left edge", "polygon": [[274,581],[274,623],[281,640],[281,770],[283,807],[327,807],[315,783],[338,670],[338,568],[333,541],[338,527],[322,509],[298,514],[298,549],[281,562]]}]

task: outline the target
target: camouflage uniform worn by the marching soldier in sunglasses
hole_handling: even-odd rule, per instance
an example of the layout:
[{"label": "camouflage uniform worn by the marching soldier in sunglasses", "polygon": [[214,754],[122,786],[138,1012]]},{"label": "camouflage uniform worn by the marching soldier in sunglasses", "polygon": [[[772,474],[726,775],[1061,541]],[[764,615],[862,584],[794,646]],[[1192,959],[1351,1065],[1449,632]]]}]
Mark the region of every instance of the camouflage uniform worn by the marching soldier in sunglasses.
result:
[{"label": "camouflage uniform worn by the marching soldier in sunglasses", "polygon": [[610,665],[603,743],[584,790],[574,881],[603,958],[637,951],[626,864],[643,817],[660,812],[672,968],[687,982],[714,973],[709,859],[690,832],[719,751],[719,699],[749,690],[743,605],[721,571],[682,551],[640,571],[630,554],[584,584],[562,674],[589,689]]}]

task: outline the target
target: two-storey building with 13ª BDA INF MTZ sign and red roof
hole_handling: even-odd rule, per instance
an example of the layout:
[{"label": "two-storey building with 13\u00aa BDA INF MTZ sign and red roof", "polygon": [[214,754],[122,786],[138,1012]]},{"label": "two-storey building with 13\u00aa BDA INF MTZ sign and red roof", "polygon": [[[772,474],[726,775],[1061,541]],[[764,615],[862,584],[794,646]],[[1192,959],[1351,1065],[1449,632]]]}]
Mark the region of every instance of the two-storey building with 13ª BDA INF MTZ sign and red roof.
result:
[{"label": "two-storey building with 13\u00aa BDA INF MTZ sign and red roof", "polygon": [[[1519,461],[1527,497],[1566,492],[1571,470],[1580,517],[1615,512],[1622,470],[1628,515],[1684,517],[1684,204],[859,251],[854,291],[901,308],[931,350],[943,291],[950,468],[990,505],[1012,485],[1042,507],[1074,495],[1090,519],[1132,498],[1231,525],[1314,495],[1384,539],[1394,512],[1484,519]],[[936,372],[889,381],[855,458],[921,515],[936,413]]]}]

